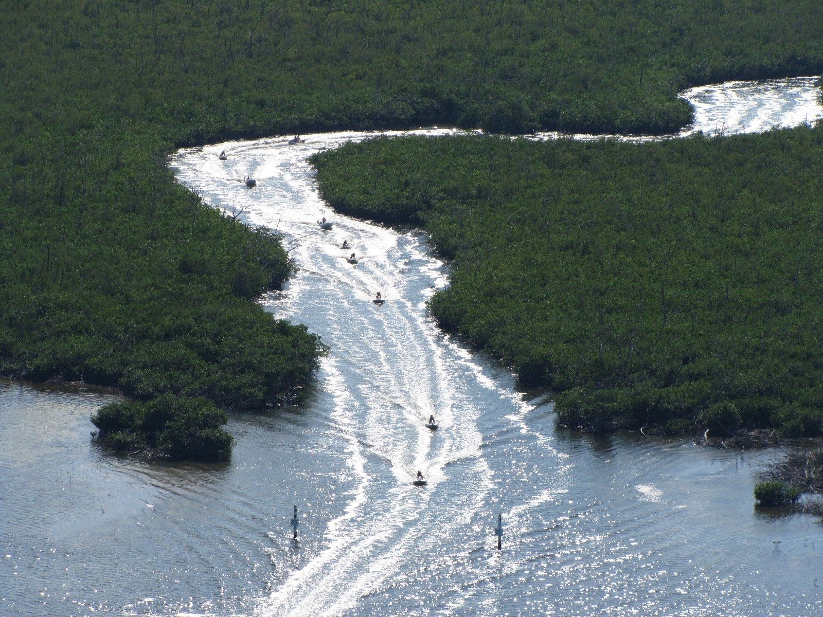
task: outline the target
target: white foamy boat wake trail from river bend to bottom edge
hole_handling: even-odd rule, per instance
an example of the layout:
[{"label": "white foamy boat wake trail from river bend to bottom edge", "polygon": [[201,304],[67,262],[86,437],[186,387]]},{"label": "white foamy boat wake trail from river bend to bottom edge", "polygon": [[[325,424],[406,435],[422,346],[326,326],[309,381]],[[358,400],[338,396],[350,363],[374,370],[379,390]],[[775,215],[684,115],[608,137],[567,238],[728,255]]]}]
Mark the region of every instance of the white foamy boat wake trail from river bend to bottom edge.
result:
[{"label": "white foamy boat wake trail from river bend to bottom edge", "polygon": [[[314,144],[311,150],[263,140],[183,151],[176,161],[178,177],[201,188],[207,201],[227,211],[242,207],[245,220],[280,230],[289,241],[306,230],[310,233],[309,225],[320,216],[332,218],[317,197],[306,155],[330,143],[365,137],[362,133],[307,136]],[[230,152],[228,165],[213,157],[222,149]],[[258,179],[258,188],[247,191],[231,180],[246,174]],[[323,318],[321,329],[326,327],[324,339],[336,352],[346,351],[323,362],[321,379],[335,400],[334,434],[349,442],[356,485],[349,507],[328,523],[328,544],[261,603],[261,615],[336,615],[398,576],[406,565],[404,555],[429,550],[437,541],[425,532],[434,524],[427,503],[447,479],[446,466],[471,460],[473,481],[452,499],[461,514],[436,523],[443,534],[466,525],[491,488],[488,467],[478,455],[481,434],[474,420],[480,410],[453,396],[439,334],[421,310],[425,298],[414,295],[414,286],[408,287],[405,278],[429,276],[434,283],[442,264],[426,257],[419,240],[411,236],[339,216],[334,220],[335,231],[328,235],[345,235],[356,252],[370,258],[351,267],[325,234],[290,244],[301,271],[291,281],[286,303],[276,309],[278,317],[289,317],[310,294]],[[409,262],[423,265],[411,269],[402,265]],[[320,296],[319,287],[324,290]],[[390,301],[352,328],[346,315],[367,304],[374,290],[383,290]],[[352,366],[361,378],[351,378]],[[458,409],[461,402],[463,408]],[[441,422],[436,446],[433,435],[421,427],[430,413],[438,414]],[[391,485],[384,473],[375,479],[370,472],[375,465],[388,466]],[[410,486],[418,468],[425,469],[430,480],[425,491]]]}]

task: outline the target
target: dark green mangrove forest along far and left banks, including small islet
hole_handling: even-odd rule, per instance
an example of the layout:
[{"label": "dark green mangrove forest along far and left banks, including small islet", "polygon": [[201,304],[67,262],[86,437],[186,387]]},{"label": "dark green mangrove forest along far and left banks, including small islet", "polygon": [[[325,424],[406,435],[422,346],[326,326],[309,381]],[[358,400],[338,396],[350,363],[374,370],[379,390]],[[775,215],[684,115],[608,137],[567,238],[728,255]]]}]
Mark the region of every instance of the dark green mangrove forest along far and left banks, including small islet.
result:
[{"label": "dark green mangrove forest along far and left banks, including small islet", "polygon": [[[288,274],[279,239],[177,186],[175,148],[435,123],[676,132],[687,86],[820,72],[815,14],[811,0],[14,2],[0,15],[0,374],[118,387],[134,401],[98,416],[101,437],[225,457],[219,407],[294,400],[324,348],[253,303]],[[409,161],[415,183],[420,153]],[[213,450],[179,449],[173,427]]]}]

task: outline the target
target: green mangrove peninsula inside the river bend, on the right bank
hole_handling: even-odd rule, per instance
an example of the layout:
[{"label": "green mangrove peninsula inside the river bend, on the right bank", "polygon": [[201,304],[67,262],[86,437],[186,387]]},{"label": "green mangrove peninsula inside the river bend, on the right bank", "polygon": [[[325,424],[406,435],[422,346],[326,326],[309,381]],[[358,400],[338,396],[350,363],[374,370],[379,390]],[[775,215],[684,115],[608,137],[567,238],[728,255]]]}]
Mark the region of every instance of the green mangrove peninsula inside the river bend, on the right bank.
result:
[{"label": "green mangrove peninsula inside the river bend, on the right bank", "polygon": [[642,145],[375,139],[323,196],[425,225],[439,324],[558,393],[562,424],[821,434],[823,128]]}]

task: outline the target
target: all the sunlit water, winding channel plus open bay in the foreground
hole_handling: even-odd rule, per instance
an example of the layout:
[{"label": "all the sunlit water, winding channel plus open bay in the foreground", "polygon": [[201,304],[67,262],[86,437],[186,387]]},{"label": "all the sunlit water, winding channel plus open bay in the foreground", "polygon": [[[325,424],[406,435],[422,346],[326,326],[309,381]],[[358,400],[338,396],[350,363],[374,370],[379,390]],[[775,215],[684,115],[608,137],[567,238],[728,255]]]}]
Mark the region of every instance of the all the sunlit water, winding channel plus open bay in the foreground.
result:
[{"label": "all the sunlit water, winding channel plus open bay in the foreground", "polygon": [[[819,92],[813,78],[695,88],[684,135],[811,122]],[[206,202],[284,234],[298,270],[263,305],[332,348],[308,403],[231,412],[225,465],[146,464],[90,440],[110,395],[0,383],[0,615],[823,612],[823,527],[753,507],[774,451],[556,429],[551,401],[437,330],[425,302],[448,270],[425,234],[319,199],[306,157],[369,135],[304,137],[172,165]]]}]

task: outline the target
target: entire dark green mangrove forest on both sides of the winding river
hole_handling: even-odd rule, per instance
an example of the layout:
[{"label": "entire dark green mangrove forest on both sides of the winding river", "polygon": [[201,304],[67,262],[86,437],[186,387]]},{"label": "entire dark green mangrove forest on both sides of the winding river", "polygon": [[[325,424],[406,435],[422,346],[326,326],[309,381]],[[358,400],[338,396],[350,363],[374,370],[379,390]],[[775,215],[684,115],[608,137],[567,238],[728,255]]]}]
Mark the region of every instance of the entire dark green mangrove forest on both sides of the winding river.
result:
[{"label": "entire dark green mangrove forest on both sides of the winding river", "polygon": [[[226,457],[221,408],[299,400],[325,348],[254,303],[289,274],[279,238],[177,186],[175,148],[434,123],[675,132],[686,86],[820,72],[818,9],[7,3],[0,373],[117,387],[132,400],[96,420],[121,448]],[[816,434],[819,141],[378,141],[318,165],[342,209],[431,230],[456,264],[439,322],[562,392],[562,421]]]}]

